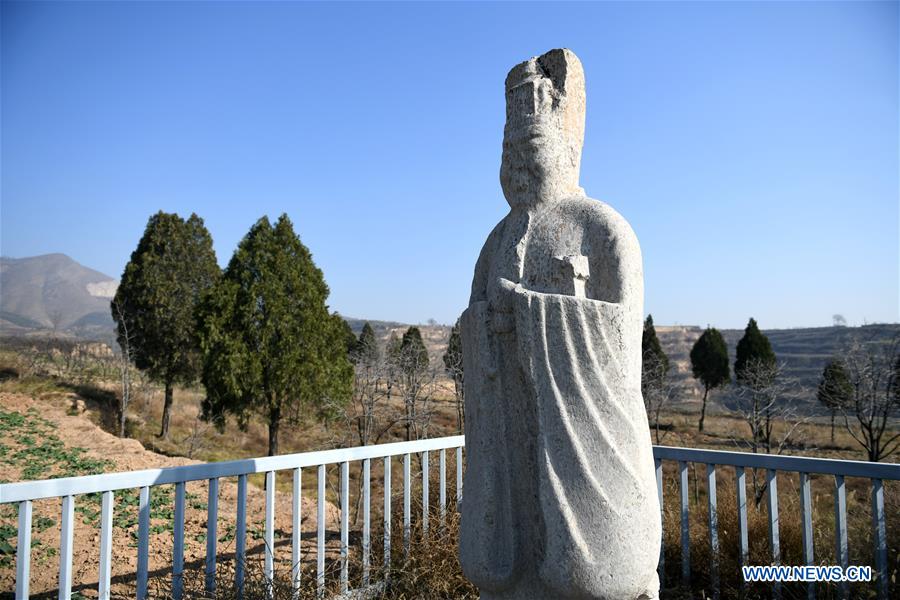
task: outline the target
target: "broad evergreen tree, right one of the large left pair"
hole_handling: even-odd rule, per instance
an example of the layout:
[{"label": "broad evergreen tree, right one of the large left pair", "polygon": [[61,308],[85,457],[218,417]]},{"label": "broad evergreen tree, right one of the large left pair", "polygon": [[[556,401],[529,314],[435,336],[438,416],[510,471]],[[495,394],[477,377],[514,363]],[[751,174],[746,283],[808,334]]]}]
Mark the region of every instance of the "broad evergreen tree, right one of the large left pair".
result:
[{"label": "broad evergreen tree, right one of the large left pair", "polygon": [[203,348],[203,416],[220,429],[252,414],[278,453],[283,422],[327,419],[350,397],[353,368],[346,323],[329,314],[328,286],[287,215],[263,217],[238,245],[198,311]]}]

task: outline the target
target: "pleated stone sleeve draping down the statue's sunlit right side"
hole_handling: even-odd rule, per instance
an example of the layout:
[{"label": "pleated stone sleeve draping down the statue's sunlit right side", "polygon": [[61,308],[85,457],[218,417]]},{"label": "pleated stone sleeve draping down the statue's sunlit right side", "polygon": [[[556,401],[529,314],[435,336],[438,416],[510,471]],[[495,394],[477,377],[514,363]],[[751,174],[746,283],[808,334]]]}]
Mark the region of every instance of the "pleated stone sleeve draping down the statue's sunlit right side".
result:
[{"label": "pleated stone sleeve draping down the statue's sunlit right side", "polygon": [[519,359],[538,416],[540,574],[561,596],[658,585],[659,503],[631,318],[618,303],[517,294]]}]

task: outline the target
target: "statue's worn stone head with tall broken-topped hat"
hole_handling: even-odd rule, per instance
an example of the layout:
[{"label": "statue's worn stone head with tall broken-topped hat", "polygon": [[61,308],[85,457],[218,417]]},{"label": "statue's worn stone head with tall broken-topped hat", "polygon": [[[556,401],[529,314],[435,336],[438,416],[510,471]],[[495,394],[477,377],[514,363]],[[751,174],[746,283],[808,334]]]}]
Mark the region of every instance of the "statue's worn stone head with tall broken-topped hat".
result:
[{"label": "statue's worn stone head with tall broken-topped hat", "polygon": [[568,49],[551,50],[506,76],[500,185],[510,206],[536,206],[584,192],[584,70]]}]

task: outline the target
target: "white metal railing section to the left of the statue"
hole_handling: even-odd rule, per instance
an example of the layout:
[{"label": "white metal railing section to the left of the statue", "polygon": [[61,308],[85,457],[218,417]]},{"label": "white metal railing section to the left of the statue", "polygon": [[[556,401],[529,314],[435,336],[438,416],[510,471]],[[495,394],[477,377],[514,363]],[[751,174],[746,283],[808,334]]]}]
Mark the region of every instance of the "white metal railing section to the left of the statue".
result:
[{"label": "white metal railing section to the left of the statue", "polygon": [[[18,546],[16,551],[16,598],[28,597],[31,574],[31,516],[32,502],[45,498],[62,498],[61,541],[59,552],[59,597],[71,598],[72,588],[72,540],[74,535],[74,508],[76,497],[83,494],[101,493],[102,506],[100,517],[100,569],[98,595],[102,599],[110,597],[110,575],[112,560],[112,528],[113,500],[116,491],[139,489],[138,507],[138,561],[137,561],[137,597],[147,598],[148,563],[150,546],[150,494],[154,486],[175,484],[174,544],[172,564],[172,594],[178,599],[182,595],[184,571],[184,509],[185,484],[191,481],[209,482],[207,501],[206,532],[206,567],[205,585],[207,591],[215,592],[216,542],[218,516],[219,479],[237,477],[237,523],[235,531],[235,587],[240,593],[244,582],[244,563],[247,535],[247,476],[264,473],[265,489],[265,562],[264,574],[268,580],[274,577],[275,547],[275,474],[278,471],[291,471],[293,474],[293,514],[291,532],[291,565],[292,583],[295,589],[300,587],[300,506],[301,476],[304,468],[316,467],[318,478],[317,531],[316,531],[316,585],[319,595],[325,592],[325,468],[327,465],[339,464],[340,475],[340,589],[349,590],[349,472],[350,463],[362,461],[363,484],[363,530],[362,530],[362,565],[363,586],[369,584],[369,551],[371,530],[369,503],[371,461],[384,459],[384,560],[389,563],[391,544],[391,458],[403,457],[403,538],[409,543],[411,527],[410,494],[410,458],[412,454],[422,456],[422,503],[423,520],[428,519],[428,454],[432,451],[440,453],[440,489],[441,510],[446,506],[446,453],[456,451],[456,484],[457,497],[462,491],[462,448],[463,436],[434,438],[414,442],[399,442],[361,446],[321,452],[305,452],[282,456],[269,456],[247,460],[171,467],[166,469],[147,469],[125,473],[108,473],[88,475],[84,477],[66,477],[42,481],[25,481],[0,485],[0,504],[18,503],[19,527]],[[427,525],[423,523],[423,526]]]}]

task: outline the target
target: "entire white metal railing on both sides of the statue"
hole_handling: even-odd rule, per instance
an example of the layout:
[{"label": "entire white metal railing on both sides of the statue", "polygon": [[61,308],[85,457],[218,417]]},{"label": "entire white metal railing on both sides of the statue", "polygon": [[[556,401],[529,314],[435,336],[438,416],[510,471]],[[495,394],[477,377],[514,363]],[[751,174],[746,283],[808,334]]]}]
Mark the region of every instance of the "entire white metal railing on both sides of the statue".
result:
[{"label": "entire white metal railing on both sides of the statue", "polygon": [[[421,454],[422,458],[422,526],[428,527],[428,478],[429,453],[439,452],[439,504],[443,514],[447,506],[446,452],[456,452],[456,493],[457,500],[462,493],[462,450],[465,443],[463,436],[380,444],[321,452],[307,452],[283,456],[272,456],[230,462],[208,463],[167,469],[149,469],[126,473],[109,473],[89,475],[85,477],[69,477],[43,481],[26,481],[0,485],[0,504],[18,503],[19,527],[16,558],[16,598],[27,598],[30,578],[31,560],[31,517],[32,502],[45,498],[62,498],[62,530],[59,553],[59,597],[70,598],[72,586],[72,540],[74,524],[74,507],[76,496],[90,493],[102,494],[101,535],[100,535],[100,568],[98,591],[100,598],[109,598],[111,574],[111,549],[114,494],[125,489],[140,490],[138,518],[138,563],[137,563],[137,597],[147,597],[148,557],[150,531],[150,497],[152,488],[158,485],[175,485],[174,510],[174,544],[172,564],[172,591],[175,598],[180,598],[182,591],[182,574],[184,570],[184,510],[185,484],[191,481],[207,480],[207,535],[206,535],[206,588],[214,592],[216,572],[216,522],[218,514],[218,488],[222,477],[237,477],[237,523],[235,532],[235,584],[237,590],[242,589],[244,579],[244,560],[246,552],[246,502],[247,476],[264,473],[265,489],[265,576],[271,579],[274,575],[274,512],[275,512],[275,475],[278,471],[291,471],[293,474],[293,515],[291,533],[292,581],[295,589],[300,585],[300,507],[301,476],[305,468],[316,467],[318,484],[317,503],[317,536],[316,536],[316,585],[320,595],[325,591],[325,482],[326,466],[340,465],[340,589],[349,590],[349,471],[350,463],[362,461],[362,585],[370,584],[370,505],[371,505],[371,461],[384,460],[384,561],[389,565],[391,547],[391,457],[403,458],[403,542],[408,547],[411,528],[411,469],[410,458],[413,454]],[[745,469],[764,469],[767,477],[767,500],[769,518],[769,542],[772,559],[775,563],[781,560],[778,521],[777,473],[795,472],[800,474],[800,499],[802,510],[803,557],[806,564],[813,564],[812,540],[812,505],[810,494],[810,474],[832,475],[835,478],[835,560],[843,567],[848,566],[847,541],[847,497],[844,486],[845,477],[862,477],[872,481],[872,525],[874,534],[875,572],[878,579],[879,598],[889,595],[887,566],[887,532],[884,510],[883,480],[900,480],[900,464],[869,463],[848,460],[831,460],[806,457],[774,456],[767,454],[748,454],[743,452],[722,452],[715,450],[697,450],[690,448],[674,448],[654,446],[656,459],[656,478],[660,504],[663,500],[663,461],[675,461],[678,464],[680,496],[681,496],[681,540],[682,540],[682,575],[690,579],[690,536],[689,532],[689,495],[688,495],[688,463],[707,465],[708,490],[708,526],[710,547],[712,549],[712,584],[714,596],[718,595],[718,514],[716,502],[716,470],[718,466],[735,468],[736,498],[738,505],[739,553],[742,565],[749,558],[747,530],[747,493]],[[660,556],[660,573],[663,572],[664,556]],[[776,596],[780,588],[774,588]],[[810,598],[815,597],[815,584],[809,584]],[[841,588],[843,597],[849,590],[846,584]]]}]

